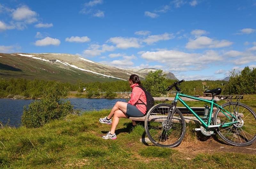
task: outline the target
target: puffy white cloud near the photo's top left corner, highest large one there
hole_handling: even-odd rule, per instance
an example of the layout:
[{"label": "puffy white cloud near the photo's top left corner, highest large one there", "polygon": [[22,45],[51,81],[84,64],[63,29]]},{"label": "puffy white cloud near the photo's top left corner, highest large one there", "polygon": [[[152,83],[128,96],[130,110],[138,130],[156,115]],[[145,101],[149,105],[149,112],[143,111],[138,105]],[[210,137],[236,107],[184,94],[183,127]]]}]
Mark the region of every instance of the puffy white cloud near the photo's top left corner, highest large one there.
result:
[{"label": "puffy white cloud near the photo's top left corner, highest large one there", "polygon": [[21,6],[12,12],[12,18],[26,23],[34,23],[37,21],[37,13],[30,10],[27,6]]}]

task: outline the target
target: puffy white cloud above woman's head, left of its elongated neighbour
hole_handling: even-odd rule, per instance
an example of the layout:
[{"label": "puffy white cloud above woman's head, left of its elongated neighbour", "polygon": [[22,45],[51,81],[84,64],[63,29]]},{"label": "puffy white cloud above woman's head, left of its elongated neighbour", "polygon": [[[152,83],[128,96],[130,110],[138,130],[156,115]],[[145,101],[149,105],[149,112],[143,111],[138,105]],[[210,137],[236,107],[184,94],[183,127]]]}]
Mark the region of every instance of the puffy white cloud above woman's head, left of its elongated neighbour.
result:
[{"label": "puffy white cloud above woman's head, left of its elongated neighbour", "polygon": [[127,48],[140,48],[140,41],[137,38],[124,38],[124,37],[113,37],[107,42],[116,44],[117,48],[127,49]]}]

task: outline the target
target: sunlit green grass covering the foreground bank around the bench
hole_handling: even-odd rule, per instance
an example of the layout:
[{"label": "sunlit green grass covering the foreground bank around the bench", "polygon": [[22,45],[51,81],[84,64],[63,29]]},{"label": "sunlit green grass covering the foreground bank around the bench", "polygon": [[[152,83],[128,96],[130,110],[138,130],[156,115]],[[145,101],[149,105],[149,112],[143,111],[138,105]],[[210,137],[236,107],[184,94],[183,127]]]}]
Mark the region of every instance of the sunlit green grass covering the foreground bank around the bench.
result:
[{"label": "sunlit green grass covering the foreground bank around the bench", "polygon": [[[244,97],[256,111],[256,95]],[[196,103],[197,104],[197,103]],[[187,154],[175,149],[144,145],[142,125],[132,126],[128,119],[118,124],[116,140],[104,140],[102,135],[110,126],[98,122],[109,110],[69,115],[65,120],[54,120],[41,128],[0,129],[0,168],[253,168],[256,155],[243,153]],[[204,139],[186,126],[184,143]],[[203,143],[202,143],[203,144]],[[232,147],[232,146],[230,146]],[[189,156],[189,158],[188,158]]]}]

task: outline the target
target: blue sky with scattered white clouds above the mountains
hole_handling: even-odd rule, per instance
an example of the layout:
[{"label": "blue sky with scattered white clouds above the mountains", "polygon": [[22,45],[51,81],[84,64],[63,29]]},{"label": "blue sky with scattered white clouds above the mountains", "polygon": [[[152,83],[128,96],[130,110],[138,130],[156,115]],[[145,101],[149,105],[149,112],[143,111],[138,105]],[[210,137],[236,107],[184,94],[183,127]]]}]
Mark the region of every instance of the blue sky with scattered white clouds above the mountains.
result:
[{"label": "blue sky with scattered white clouds above the mountains", "polygon": [[256,67],[256,0],[1,0],[0,53],[223,79]]}]

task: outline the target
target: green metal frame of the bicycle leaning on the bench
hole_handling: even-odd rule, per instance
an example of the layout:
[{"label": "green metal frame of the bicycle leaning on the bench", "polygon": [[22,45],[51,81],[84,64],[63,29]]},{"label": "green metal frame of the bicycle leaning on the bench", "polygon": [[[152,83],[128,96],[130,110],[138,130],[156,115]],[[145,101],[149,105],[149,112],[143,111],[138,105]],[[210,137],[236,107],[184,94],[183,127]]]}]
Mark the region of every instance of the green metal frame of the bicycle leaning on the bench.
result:
[{"label": "green metal frame of the bicycle leaning on the bench", "polygon": [[[188,105],[187,103],[185,103],[184,100],[182,100],[181,97],[186,97],[186,98],[190,98],[190,99],[195,99],[195,100],[199,100],[199,101],[203,101],[203,102],[206,102],[206,103],[210,103],[211,104],[211,108],[210,108],[210,113],[208,114],[209,115],[209,119],[206,122],[204,122],[204,120],[199,117]],[[206,129],[209,129],[209,128],[218,128],[218,127],[227,127],[227,126],[230,126],[234,123],[237,123],[237,121],[234,121],[234,122],[228,122],[228,123],[222,123],[222,124],[217,124],[217,125],[211,125],[211,120],[212,120],[212,111],[213,111],[213,106],[216,106],[217,108],[220,108],[220,111],[229,119],[231,120],[231,118],[227,115],[231,115],[233,118],[236,119],[236,116],[234,116],[232,113],[228,112],[227,110],[225,110],[223,107],[221,107],[220,105],[218,105],[217,103],[215,103],[214,101],[214,97],[212,97],[211,100],[207,100],[207,99],[201,99],[201,98],[198,98],[198,97],[194,97],[194,96],[190,96],[190,95],[186,95],[186,94],[182,94],[180,92],[176,92],[176,96],[175,96],[175,99],[173,100],[174,102],[174,109],[176,108],[176,105],[177,105],[177,101],[180,101],[185,107],[187,107],[187,109],[202,123],[202,125],[206,128]],[[237,114],[236,114],[237,115]]]}]

